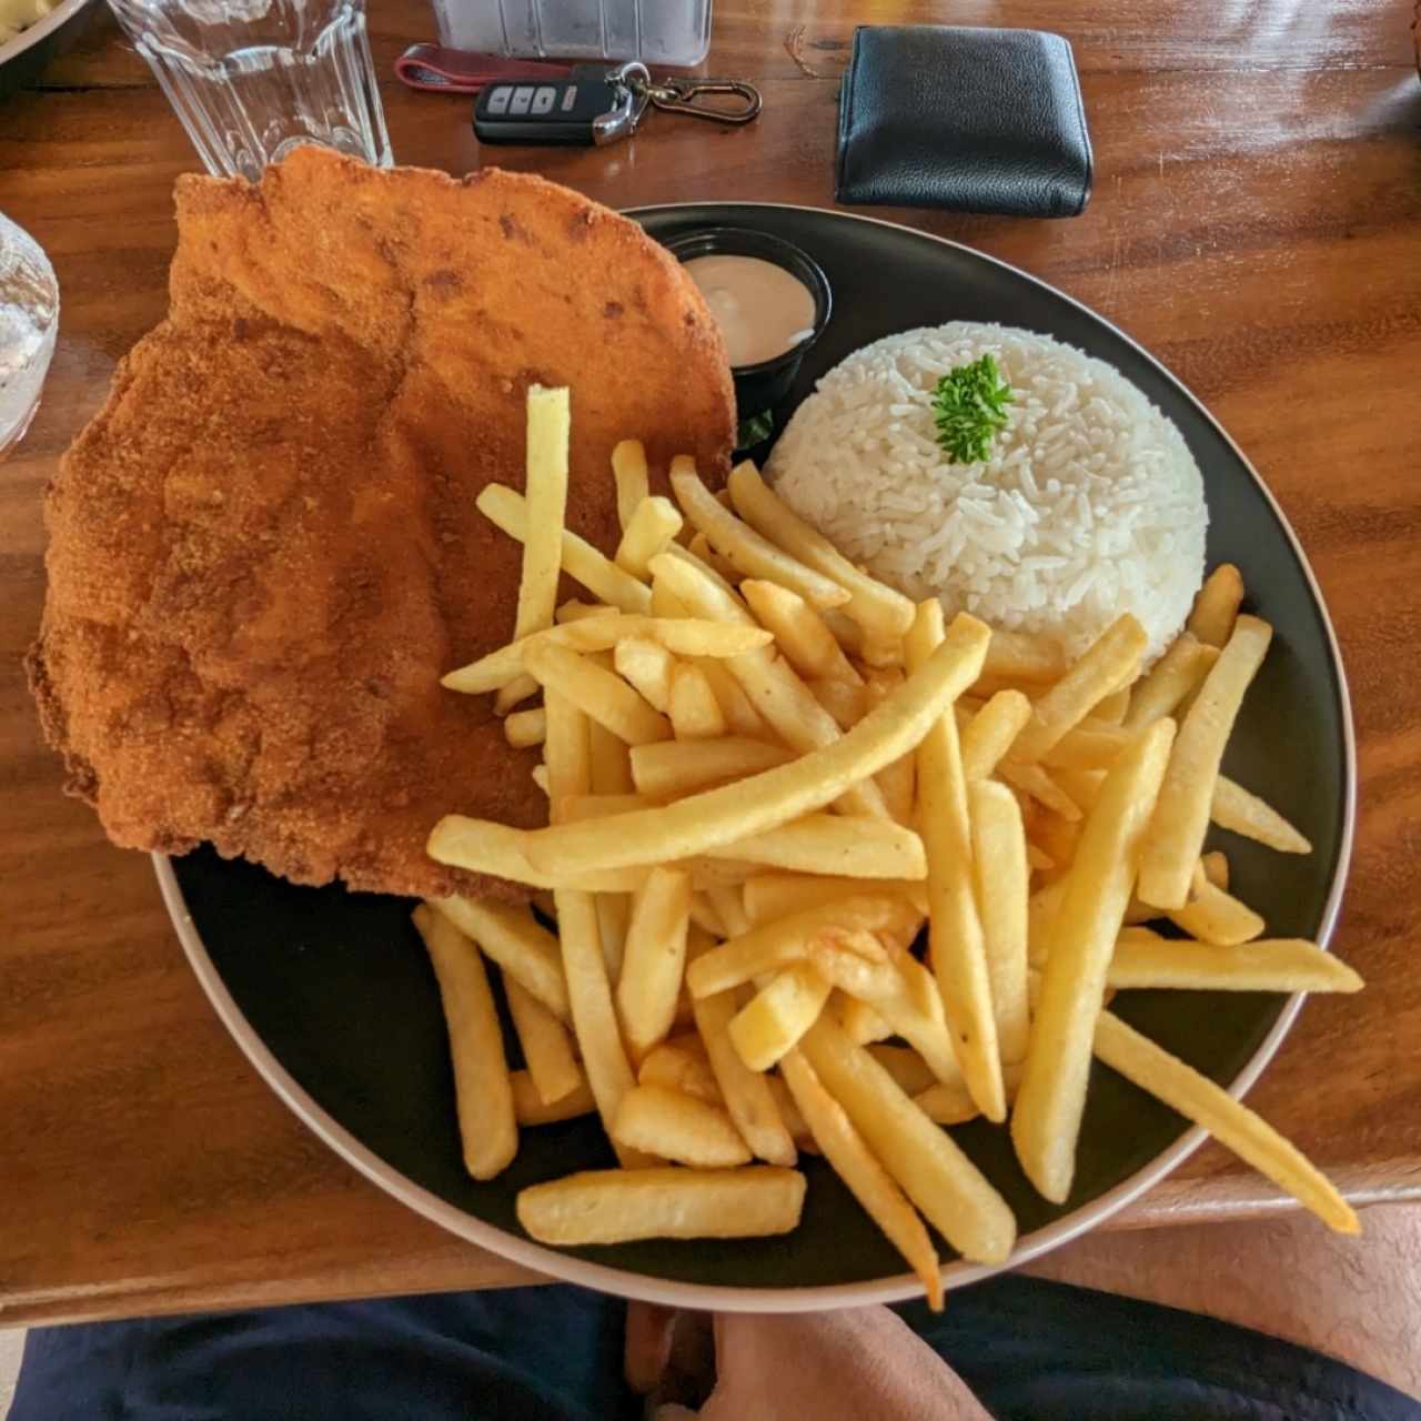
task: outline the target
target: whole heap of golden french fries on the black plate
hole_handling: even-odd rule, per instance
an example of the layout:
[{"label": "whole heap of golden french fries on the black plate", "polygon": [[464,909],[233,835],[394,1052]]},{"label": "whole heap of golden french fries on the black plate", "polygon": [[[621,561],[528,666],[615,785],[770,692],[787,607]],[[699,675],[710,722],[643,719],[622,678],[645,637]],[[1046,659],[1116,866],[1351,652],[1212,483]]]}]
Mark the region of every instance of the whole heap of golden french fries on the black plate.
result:
[{"label": "whole heap of golden french fries on the black plate", "polygon": [[[1077,661],[972,617],[944,630],[936,601],[915,610],[854,567],[753,468],[712,496],[675,459],[678,510],[631,441],[612,455],[614,561],[553,507],[566,428],[533,402],[527,497],[479,499],[524,544],[514,639],[443,684],[495,693],[500,715],[541,685],[503,733],[543,747],[549,827],[448,816],[429,851],[539,890],[561,941],[504,904],[418,914],[460,949],[441,968],[431,945],[470,1169],[500,1169],[519,1125],[593,1108],[624,1165],[524,1189],[524,1228],[557,1243],[782,1232],[803,1205],[797,1150],[818,1150],[939,1306],[918,1211],[969,1259],[1015,1241],[942,1127],[1009,1114],[1027,1177],[1061,1201],[1093,1059],[1354,1226],[1266,1125],[1104,1010],[1130,989],[1361,986],[1314,945],[1263,936],[1202,851],[1211,818],[1310,848],[1219,774],[1269,637],[1238,615],[1236,570],[1137,679],[1133,617]],[[561,571],[595,601],[554,607]],[[1188,939],[1125,926],[1161,917]],[[507,1070],[460,934],[500,965],[526,1070]],[[867,1044],[890,1037],[907,1044]]]}]

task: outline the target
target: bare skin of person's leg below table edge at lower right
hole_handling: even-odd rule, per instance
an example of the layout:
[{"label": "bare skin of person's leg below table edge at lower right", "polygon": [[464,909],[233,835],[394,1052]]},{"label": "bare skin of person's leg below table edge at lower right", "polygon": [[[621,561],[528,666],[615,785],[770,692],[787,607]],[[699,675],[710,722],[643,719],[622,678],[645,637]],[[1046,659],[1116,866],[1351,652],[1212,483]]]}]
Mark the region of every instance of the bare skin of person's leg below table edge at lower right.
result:
[{"label": "bare skin of person's leg below table edge at lower right", "polygon": [[1421,1397],[1421,1206],[1361,1226],[1341,1238],[1297,1212],[1091,1233],[1023,1272],[1253,1327]]}]

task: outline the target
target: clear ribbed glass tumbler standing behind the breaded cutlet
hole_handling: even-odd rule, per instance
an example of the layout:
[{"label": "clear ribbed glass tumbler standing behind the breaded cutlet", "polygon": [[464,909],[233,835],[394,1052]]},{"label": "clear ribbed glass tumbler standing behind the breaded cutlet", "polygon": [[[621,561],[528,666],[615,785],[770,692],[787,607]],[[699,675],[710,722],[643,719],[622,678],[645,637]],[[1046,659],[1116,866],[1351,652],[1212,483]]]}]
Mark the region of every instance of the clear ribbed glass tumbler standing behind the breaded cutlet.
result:
[{"label": "clear ribbed glass tumbler standing behind the breaded cutlet", "polygon": [[300,144],[389,166],[364,0],[109,0],[207,171],[256,179]]}]

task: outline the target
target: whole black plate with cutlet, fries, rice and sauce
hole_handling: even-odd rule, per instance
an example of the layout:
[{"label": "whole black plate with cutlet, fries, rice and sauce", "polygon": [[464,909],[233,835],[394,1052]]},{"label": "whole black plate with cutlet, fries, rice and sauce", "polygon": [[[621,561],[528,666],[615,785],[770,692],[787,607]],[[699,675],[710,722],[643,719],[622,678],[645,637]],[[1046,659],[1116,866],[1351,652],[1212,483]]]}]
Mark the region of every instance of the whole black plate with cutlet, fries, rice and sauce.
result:
[{"label": "whole black plate with cutlet, fries, rice and sauce", "polygon": [[843,213],[315,149],[178,207],[31,684],[334,1150],[696,1307],[941,1303],[1205,1128],[1356,1229],[1238,1100],[1361,985],[1341,662],[1162,365]]}]

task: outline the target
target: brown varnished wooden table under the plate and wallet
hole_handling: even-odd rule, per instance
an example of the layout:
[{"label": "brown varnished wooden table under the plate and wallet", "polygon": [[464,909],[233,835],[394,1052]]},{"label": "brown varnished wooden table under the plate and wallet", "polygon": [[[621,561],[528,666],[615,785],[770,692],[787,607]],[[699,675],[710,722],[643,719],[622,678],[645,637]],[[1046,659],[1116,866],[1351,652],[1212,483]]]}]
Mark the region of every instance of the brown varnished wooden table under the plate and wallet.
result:
[{"label": "brown varnished wooden table under the plate and wallet", "polygon": [[[431,38],[372,0],[391,72]],[[1145,20],[1141,11],[1150,10]],[[1411,0],[719,0],[708,70],[752,77],[743,131],[657,115],[604,151],[504,151],[614,206],[833,205],[855,20],[1067,34],[1096,142],[1069,222],[888,212],[1061,286],[1155,351],[1282,500],[1347,658],[1361,814],[1337,949],[1370,979],[1320,999],[1253,1101],[1356,1201],[1421,1196],[1421,84]],[[1081,16],[1088,16],[1083,18]],[[394,81],[396,156],[480,162],[465,99]],[[163,314],[171,188],[196,166],[107,13],[0,117],[0,210],[63,287],[40,416],[0,466],[0,1324],[529,1280],[379,1194],[311,1137],[217,1025],[145,857],[58,793],[20,658],[44,591],[40,496],[114,362]],[[1285,728],[1286,729],[1286,728]],[[1123,1223],[1279,1208],[1218,1148]]]}]

